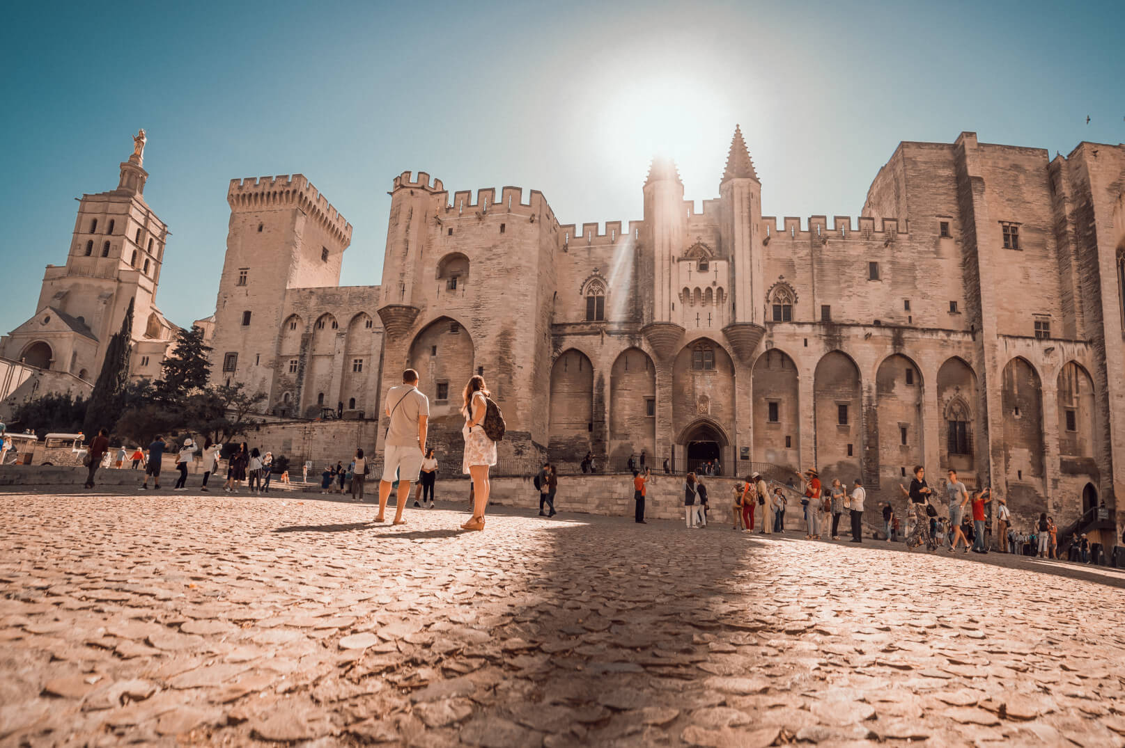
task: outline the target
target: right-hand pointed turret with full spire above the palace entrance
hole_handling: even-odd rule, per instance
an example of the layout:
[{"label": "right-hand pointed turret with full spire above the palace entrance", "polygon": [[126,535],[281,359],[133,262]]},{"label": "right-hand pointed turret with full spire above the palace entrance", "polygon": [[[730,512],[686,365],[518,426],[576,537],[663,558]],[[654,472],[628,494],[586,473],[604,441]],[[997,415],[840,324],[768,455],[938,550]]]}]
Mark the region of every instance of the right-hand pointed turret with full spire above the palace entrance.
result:
[{"label": "right-hand pointed turret with full spire above the palace entrance", "polygon": [[727,155],[727,168],[719,183],[719,195],[723,207],[720,224],[722,246],[734,258],[737,280],[730,286],[734,290],[735,321],[723,329],[723,335],[739,358],[749,362],[765,332],[765,271],[762,239],[758,236],[762,183],[758,182],[742,131],[737,125]]}]

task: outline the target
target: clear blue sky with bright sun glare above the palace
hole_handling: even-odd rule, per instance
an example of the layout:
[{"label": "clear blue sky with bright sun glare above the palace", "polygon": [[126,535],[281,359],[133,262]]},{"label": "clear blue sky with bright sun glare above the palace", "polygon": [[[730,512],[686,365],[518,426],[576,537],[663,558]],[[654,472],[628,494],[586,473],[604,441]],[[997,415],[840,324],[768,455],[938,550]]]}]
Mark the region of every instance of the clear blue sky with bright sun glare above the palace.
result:
[{"label": "clear blue sky with bright sun glare above the palace", "polygon": [[717,195],[738,122],[764,212],[807,218],[858,215],[900,140],[1125,140],[1119,0],[171,4],[6,12],[0,330],[36,311],[73,199],[116,188],[138,127],[178,325],[214,311],[232,177],[308,176],[354,229],[342,283],[364,285],[405,170],[628,221],[658,149],[687,198]]}]

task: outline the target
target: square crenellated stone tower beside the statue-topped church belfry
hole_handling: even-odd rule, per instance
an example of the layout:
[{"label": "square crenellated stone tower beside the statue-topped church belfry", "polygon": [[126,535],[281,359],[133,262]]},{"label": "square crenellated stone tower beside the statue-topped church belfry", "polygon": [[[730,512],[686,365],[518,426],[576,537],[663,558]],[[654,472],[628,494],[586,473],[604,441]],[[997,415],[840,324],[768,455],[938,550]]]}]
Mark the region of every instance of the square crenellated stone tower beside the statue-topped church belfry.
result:
[{"label": "square crenellated stone tower beside the statue-topped church belfry", "polygon": [[[304,361],[317,323],[298,314],[281,319],[286,290],[338,285],[352,227],[300,174],[232,180],[226,200],[231,221],[215,302],[212,378],[269,393],[279,337],[299,336]],[[345,330],[333,330],[342,345]],[[295,396],[304,407],[302,393]]]}]

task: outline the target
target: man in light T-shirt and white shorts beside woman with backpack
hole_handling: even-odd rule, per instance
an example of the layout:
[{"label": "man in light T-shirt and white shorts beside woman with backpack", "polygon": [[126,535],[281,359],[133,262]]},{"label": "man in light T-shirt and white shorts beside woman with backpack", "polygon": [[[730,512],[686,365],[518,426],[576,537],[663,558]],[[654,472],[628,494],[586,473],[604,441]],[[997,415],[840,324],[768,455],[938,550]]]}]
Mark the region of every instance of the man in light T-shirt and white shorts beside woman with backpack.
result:
[{"label": "man in light T-shirt and white shorts beside woman with backpack", "polygon": [[379,482],[379,513],[376,522],[384,522],[392,484],[398,480],[398,501],[394,524],[404,524],[403,510],[411,495],[411,483],[418,480],[425,455],[426,430],[430,420],[430,399],[418,390],[418,373],[413,368],[403,372],[403,383],[390,387],[385,399],[388,418],[384,435],[382,480]]}]

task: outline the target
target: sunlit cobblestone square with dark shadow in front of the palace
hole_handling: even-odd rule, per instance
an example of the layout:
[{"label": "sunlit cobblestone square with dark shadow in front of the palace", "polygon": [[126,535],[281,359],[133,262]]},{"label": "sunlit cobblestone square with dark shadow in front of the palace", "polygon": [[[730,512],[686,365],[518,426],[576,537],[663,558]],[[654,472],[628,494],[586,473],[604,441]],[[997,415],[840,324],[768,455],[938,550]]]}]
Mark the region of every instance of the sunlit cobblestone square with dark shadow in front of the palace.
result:
[{"label": "sunlit cobblestone square with dark shadow in front of the palace", "polygon": [[374,513],[0,496],[0,744],[1125,742],[1114,572]]}]

